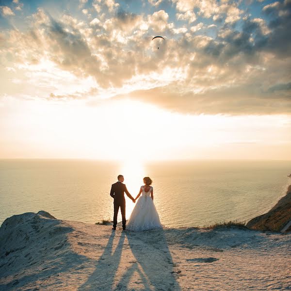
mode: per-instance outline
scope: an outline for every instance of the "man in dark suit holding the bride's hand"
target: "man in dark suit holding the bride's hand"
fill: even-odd
[[[134,198],[129,194],[125,184],[123,184],[124,178],[122,175],[118,175],[118,181],[114,183],[111,187],[110,196],[114,198],[114,215],[113,215],[113,228],[116,229],[117,225],[117,214],[120,207],[122,216],[122,229],[125,229],[126,219],[125,219],[125,198],[124,192],[129,196],[133,203],[135,203]]]

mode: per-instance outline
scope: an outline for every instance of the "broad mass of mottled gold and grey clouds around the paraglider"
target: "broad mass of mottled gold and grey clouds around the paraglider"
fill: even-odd
[[[91,18],[82,8],[58,18],[39,8],[25,30],[0,34],[0,61],[15,70],[5,80],[25,84],[32,72],[22,80],[19,67],[51,62],[80,80],[94,80],[94,96],[126,92],[183,113],[290,113],[290,3],[264,5],[255,17],[237,1],[202,2],[176,0],[173,13],[165,1],[164,9],[133,13],[113,0],[94,0],[82,7]],[[151,39],[160,33],[165,41],[157,46]],[[54,100],[89,96],[47,86]]]

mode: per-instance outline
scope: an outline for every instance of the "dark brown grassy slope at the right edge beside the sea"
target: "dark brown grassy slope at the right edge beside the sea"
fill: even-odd
[[[287,194],[267,213],[251,219],[246,226],[257,230],[291,231],[291,185]]]

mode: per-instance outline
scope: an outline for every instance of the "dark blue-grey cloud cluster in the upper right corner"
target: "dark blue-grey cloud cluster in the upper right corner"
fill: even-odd
[[[265,14],[272,14],[269,23],[261,18],[247,17],[242,20],[241,30],[236,30],[233,23],[224,25],[219,30],[218,37],[203,48],[205,54],[216,57],[220,63],[240,54],[248,57],[264,51],[275,53],[279,58],[289,57],[291,5],[288,1],[285,2],[278,2],[277,5],[264,9]],[[226,33],[227,31],[229,32]]]

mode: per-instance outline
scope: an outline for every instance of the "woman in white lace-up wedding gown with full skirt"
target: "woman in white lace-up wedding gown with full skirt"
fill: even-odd
[[[139,194],[135,200],[141,195],[134,209],[131,212],[126,228],[132,231],[143,231],[153,228],[162,228],[158,211],[154,204],[153,187],[151,178],[145,177],[144,184],[141,186]]]

